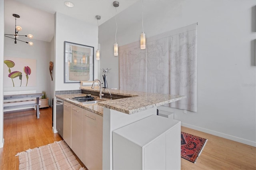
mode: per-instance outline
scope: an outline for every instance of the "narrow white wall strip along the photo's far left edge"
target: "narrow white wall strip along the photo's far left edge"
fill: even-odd
[[[0,0],[0,148],[4,146],[3,68],[4,68],[4,0]]]

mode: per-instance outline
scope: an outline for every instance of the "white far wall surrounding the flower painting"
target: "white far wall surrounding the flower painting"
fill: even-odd
[[[36,90],[37,93],[46,91],[50,95],[50,43],[32,40],[33,46],[24,42],[14,43],[11,38],[4,38],[4,57],[36,59],[36,86],[4,87],[4,91]]]

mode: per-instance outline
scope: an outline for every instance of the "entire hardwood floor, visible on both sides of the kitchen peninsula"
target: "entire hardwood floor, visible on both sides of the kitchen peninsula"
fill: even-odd
[[[58,133],[52,132],[52,108],[40,109],[40,113],[40,119],[36,119],[36,111],[32,109],[4,113],[4,148],[0,148],[0,170],[18,170],[19,158],[15,156],[18,152],[62,140]],[[255,147],[190,128],[181,129],[208,139],[195,164],[181,159],[182,170],[256,170]]]

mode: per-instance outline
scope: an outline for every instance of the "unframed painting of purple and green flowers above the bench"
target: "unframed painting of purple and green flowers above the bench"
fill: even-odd
[[[36,60],[4,57],[3,84],[4,87],[36,86]]]

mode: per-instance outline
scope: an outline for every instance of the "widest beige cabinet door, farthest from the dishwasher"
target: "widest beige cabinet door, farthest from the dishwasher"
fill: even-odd
[[[83,163],[89,170],[102,169],[103,117],[83,110]]]

